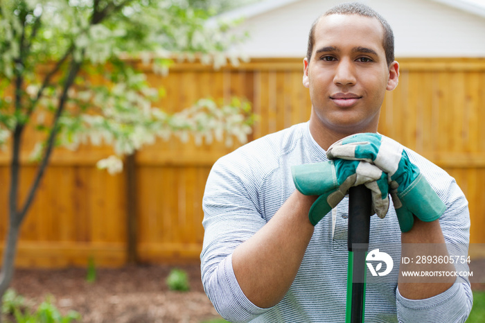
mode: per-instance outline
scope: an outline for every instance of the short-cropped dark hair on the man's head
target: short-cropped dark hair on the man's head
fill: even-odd
[[[327,10],[323,15],[318,17],[313,21],[312,27],[310,28],[310,34],[308,35],[308,49],[306,51],[306,58],[308,62],[312,58],[313,43],[315,42],[315,27],[320,21],[321,17],[326,17],[329,15],[361,15],[364,17],[376,18],[382,24],[384,28],[384,37],[382,40],[382,46],[384,47],[384,52],[386,55],[387,65],[394,62],[394,33],[392,33],[392,28],[387,23],[386,19],[373,10],[371,7],[358,2],[342,3],[333,8]]]

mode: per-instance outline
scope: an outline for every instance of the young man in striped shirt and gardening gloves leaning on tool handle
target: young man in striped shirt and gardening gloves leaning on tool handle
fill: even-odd
[[[385,91],[398,85],[391,28],[360,3],[332,8],[312,26],[303,67],[303,85],[312,102],[310,121],[222,157],[209,175],[201,261],[204,288],[215,308],[231,322],[343,322],[349,203],[344,194],[349,185],[376,187],[378,177],[366,177],[356,168],[369,161],[371,171],[389,178],[385,187],[382,182],[379,186],[383,199],[389,189],[394,201],[385,218],[371,217],[369,250],[386,245],[399,270],[367,284],[366,321],[464,322],[472,304],[468,280],[398,282],[405,269],[397,265],[402,244],[468,245],[470,222],[466,199],[448,174],[376,134]],[[352,134],[358,137],[346,138]],[[349,156],[346,145],[362,146],[362,139],[378,141],[375,155],[352,150]],[[399,163],[394,165],[396,150]],[[335,161],[328,161],[328,155]],[[342,175],[342,169],[351,176]],[[335,204],[326,195],[328,179],[321,176],[326,171],[337,176],[338,187],[330,190],[342,196]],[[367,180],[355,182],[363,175]],[[349,178],[354,179],[351,184]],[[308,180],[321,180],[321,192],[306,189]],[[415,186],[427,193],[419,191],[409,200],[403,191]],[[379,201],[373,199],[376,207]],[[315,209],[328,214],[315,216]],[[446,252],[439,247],[435,255]],[[449,263],[434,268],[452,269]]]

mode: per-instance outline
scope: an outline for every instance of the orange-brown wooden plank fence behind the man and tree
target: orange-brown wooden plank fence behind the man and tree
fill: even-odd
[[[470,203],[471,242],[485,243],[485,60],[402,59],[398,87],[388,92],[379,131],[416,150],[454,176]],[[141,63],[140,63],[141,64]],[[141,68],[150,70],[149,67]],[[308,89],[301,85],[300,59],[258,59],[213,71],[179,63],[170,75],[150,74],[165,87],[160,105],[177,111],[197,98],[243,96],[260,116],[251,139],[307,121]],[[26,146],[33,144],[26,134]],[[195,146],[160,141],[134,156],[135,224],[127,229],[127,175],[108,175],[96,161],[106,147],[58,150],[21,230],[17,266],[123,265],[130,232],[141,262],[197,261],[204,185],[215,160],[233,150],[222,143]],[[35,165],[22,157],[21,192]],[[0,152],[0,239],[7,227],[9,152]],[[132,187],[133,188],[133,187]],[[134,229],[131,230],[131,229]]]

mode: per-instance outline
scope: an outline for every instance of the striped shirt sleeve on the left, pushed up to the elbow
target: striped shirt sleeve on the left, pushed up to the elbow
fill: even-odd
[[[238,167],[224,159],[209,174],[202,202],[205,233],[201,271],[204,290],[216,311],[225,320],[248,322],[268,309],[258,308],[244,295],[231,257],[233,250],[266,221],[258,211],[256,185],[248,183],[251,169]]]

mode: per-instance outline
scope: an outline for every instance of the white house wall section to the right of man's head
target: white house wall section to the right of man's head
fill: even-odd
[[[389,20],[399,57],[484,57],[485,17],[423,0],[373,0]]]

